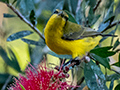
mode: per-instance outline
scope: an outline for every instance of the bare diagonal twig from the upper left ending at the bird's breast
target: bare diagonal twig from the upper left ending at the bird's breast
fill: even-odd
[[[44,36],[42,33],[32,24],[30,23],[18,10],[15,9],[11,4],[7,4],[7,6],[23,21],[25,22],[28,26],[30,26],[38,35],[45,40]]]

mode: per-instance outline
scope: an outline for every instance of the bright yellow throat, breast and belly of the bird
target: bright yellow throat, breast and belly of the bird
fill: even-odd
[[[82,57],[86,52],[93,49],[101,39],[101,36],[98,36],[96,38],[88,37],[74,41],[64,40],[61,38],[64,25],[65,20],[55,14],[49,19],[44,31],[46,44],[57,54],[72,55],[73,58],[77,56]]]

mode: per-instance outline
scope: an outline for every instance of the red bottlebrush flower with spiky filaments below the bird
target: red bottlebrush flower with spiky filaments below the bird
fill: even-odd
[[[15,79],[15,83],[11,85],[8,90],[67,90],[72,87],[63,81],[67,74],[62,70],[54,71],[48,69],[46,65],[39,65],[38,69],[33,66],[28,67],[25,71],[26,77],[19,75],[18,80]]]

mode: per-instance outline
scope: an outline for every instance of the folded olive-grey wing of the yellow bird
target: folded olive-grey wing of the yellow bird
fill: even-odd
[[[62,38],[66,40],[77,40],[86,37],[95,37],[98,35],[101,35],[101,33],[91,28],[83,27],[78,24],[67,21],[64,27],[64,34]]]

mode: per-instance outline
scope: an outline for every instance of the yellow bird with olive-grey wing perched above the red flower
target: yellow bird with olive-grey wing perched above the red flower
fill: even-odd
[[[68,18],[64,11],[56,9],[46,24],[45,42],[57,54],[82,58],[99,44],[102,34],[70,22]]]

